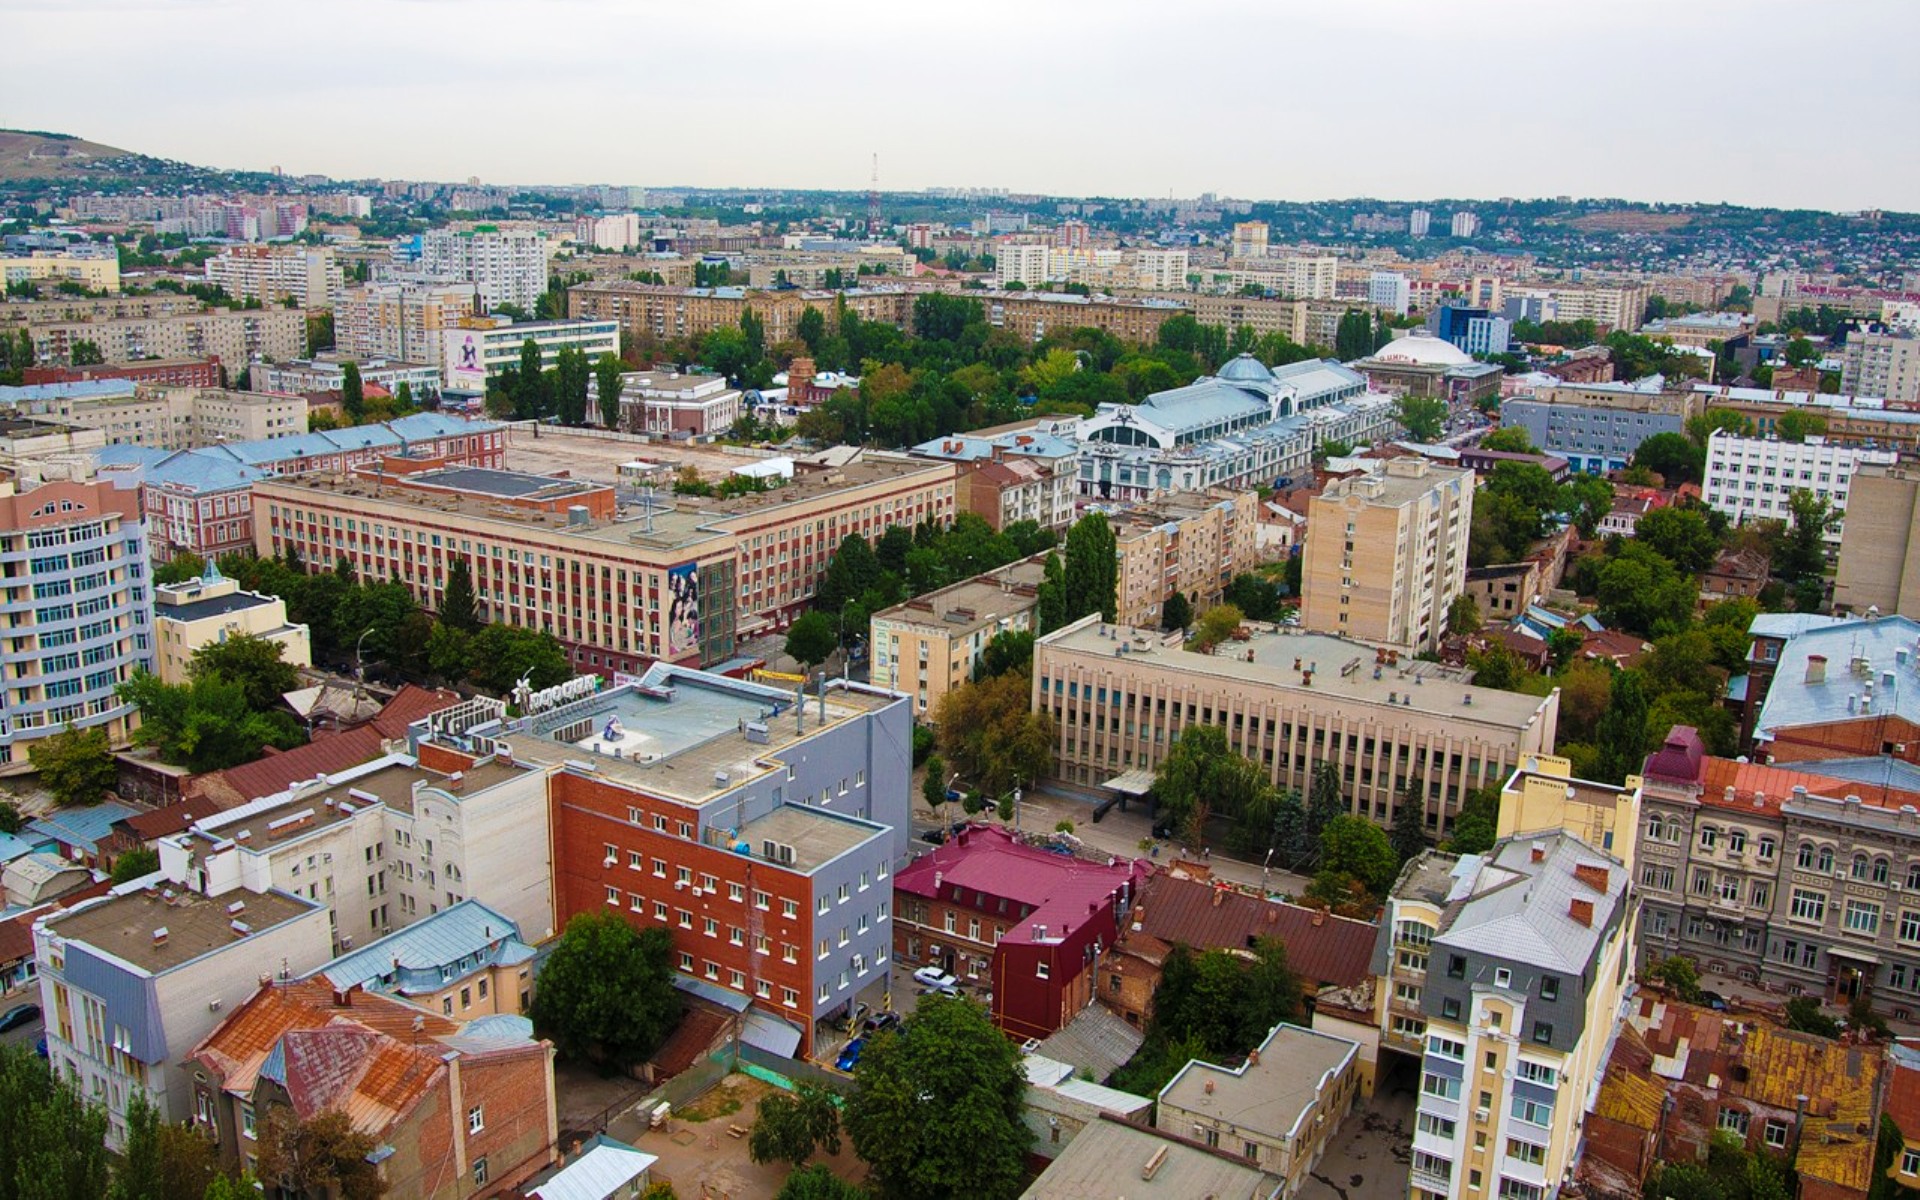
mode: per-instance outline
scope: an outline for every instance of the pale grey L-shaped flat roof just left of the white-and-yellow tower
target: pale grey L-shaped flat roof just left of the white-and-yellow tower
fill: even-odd
[[[1338,1073],[1357,1044],[1344,1037],[1313,1033],[1300,1025],[1275,1025],[1267,1041],[1238,1068],[1198,1058],[1160,1089],[1160,1102],[1204,1114],[1236,1129],[1284,1139],[1319,1102],[1329,1077]]]

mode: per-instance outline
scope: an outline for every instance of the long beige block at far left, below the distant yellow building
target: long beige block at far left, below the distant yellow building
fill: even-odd
[[[307,351],[307,315],[300,309],[211,309],[171,317],[48,321],[27,326],[38,363],[71,363],[73,348],[92,342],[108,363],[217,357],[238,371],[259,359]]]

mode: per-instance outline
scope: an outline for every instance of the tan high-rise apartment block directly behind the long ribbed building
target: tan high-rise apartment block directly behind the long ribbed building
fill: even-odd
[[[1467,584],[1471,524],[1471,470],[1402,457],[1331,484],[1308,505],[1302,626],[1432,649]]]

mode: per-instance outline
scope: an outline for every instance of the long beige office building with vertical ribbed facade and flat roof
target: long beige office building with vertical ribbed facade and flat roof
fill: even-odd
[[[1553,745],[1559,693],[1486,691],[1461,672],[1327,634],[1254,630],[1202,655],[1179,634],[1098,614],[1033,647],[1033,707],[1054,718],[1056,780],[1085,795],[1140,795],[1173,737],[1219,726],[1279,787],[1340,772],[1352,810],[1380,826],[1407,783],[1446,837],[1473,787]]]

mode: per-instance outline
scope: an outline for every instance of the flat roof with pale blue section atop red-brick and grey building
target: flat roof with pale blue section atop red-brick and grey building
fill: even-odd
[[[515,762],[584,762],[611,780],[705,804],[780,770],[778,755],[822,724],[897,703],[885,693],[829,687],[822,722],[822,701],[808,693],[803,730],[791,691],[668,666],[649,670],[647,682],[651,687],[611,687],[516,722],[505,735]],[[749,726],[764,726],[764,733]]]

